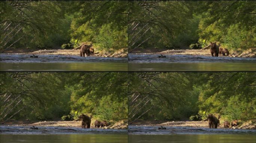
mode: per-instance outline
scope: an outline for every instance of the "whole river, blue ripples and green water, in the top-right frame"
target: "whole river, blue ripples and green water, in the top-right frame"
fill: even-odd
[[[256,71],[256,58],[129,54],[129,71]]]

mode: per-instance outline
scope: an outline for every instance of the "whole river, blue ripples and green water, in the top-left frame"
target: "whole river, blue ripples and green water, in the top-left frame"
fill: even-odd
[[[0,71],[127,71],[127,58],[0,54]]]

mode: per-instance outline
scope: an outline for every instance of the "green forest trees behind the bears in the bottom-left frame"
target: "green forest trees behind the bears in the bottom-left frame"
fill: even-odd
[[[128,73],[1,72],[0,122],[127,120]]]

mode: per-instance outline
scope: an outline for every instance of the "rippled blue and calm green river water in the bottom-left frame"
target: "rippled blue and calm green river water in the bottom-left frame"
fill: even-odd
[[[0,143],[128,143],[127,130],[0,126]]]

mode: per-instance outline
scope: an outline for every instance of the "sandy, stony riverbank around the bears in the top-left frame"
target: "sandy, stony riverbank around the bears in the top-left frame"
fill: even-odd
[[[9,50],[4,53],[7,54],[28,54],[28,55],[76,55],[80,56],[80,50]],[[94,55],[95,57],[116,57],[116,58],[125,58],[127,57],[127,51],[125,51],[125,48],[122,48],[118,51],[113,52],[102,52],[102,51],[95,51]]]

